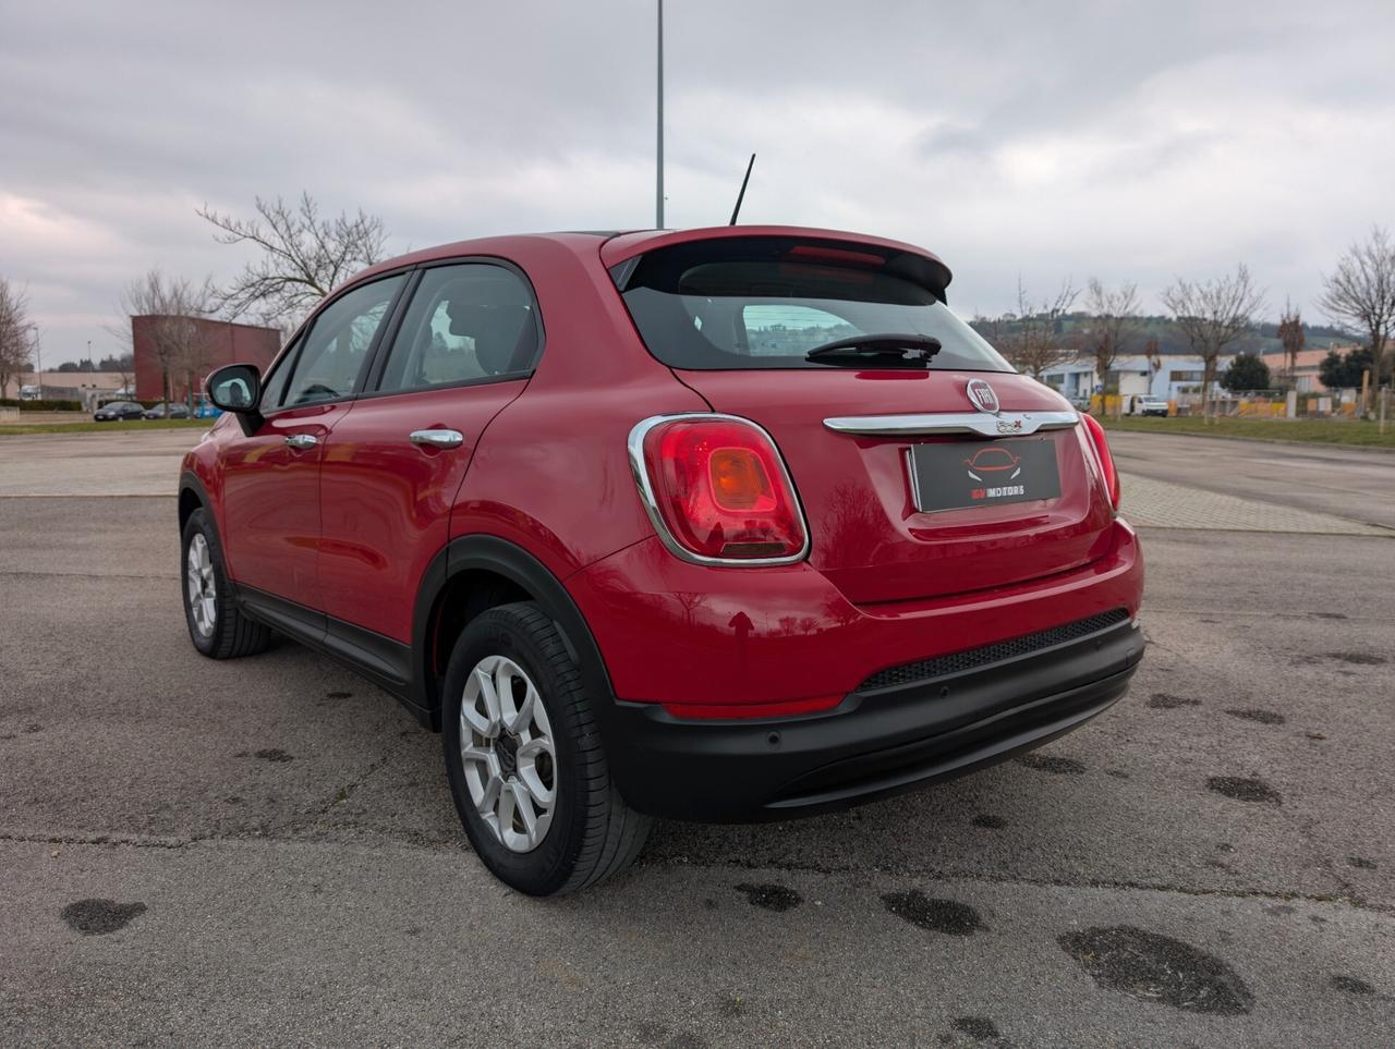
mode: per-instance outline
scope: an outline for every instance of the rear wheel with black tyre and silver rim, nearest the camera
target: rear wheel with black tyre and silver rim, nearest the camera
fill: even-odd
[[[615,788],[580,668],[538,605],[499,605],[470,621],[442,695],[451,794],[470,844],[501,882],[555,896],[629,866],[651,820]]]

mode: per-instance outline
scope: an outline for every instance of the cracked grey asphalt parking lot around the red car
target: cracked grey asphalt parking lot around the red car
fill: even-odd
[[[1144,527],[1149,653],[1091,725],[836,816],[661,824],[534,901],[388,696],[293,644],[193,651],[174,501],[141,494],[193,435],[134,480],[92,439],[38,474],[0,439],[3,1045],[1391,1043],[1395,540]],[[1384,460],[1331,459],[1230,494],[1395,518]]]

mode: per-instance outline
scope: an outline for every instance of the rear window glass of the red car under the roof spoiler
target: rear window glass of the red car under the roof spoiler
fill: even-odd
[[[932,335],[932,368],[1013,371],[943,303],[929,259],[861,244],[734,237],[660,248],[612,271],[640,338],[672,368],[847,367],[805,359],[858,335]]]

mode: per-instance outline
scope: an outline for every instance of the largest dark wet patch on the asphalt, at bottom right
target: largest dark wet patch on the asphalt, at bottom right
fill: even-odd
[[[1063,933],[1062,950],[1102,988],[1187,1013],[1244,1016],[1254,995],[1221,958],[1133,925]]]

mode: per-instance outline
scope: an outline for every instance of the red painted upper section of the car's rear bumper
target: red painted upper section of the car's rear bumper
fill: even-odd
[[[1143,559],[1133,529],[1113,522],[1098,554],[1032,584],[859,607],[810,564],[711,569],[674,558],[656,538],[566,586],[621,699],[739,707],[841,697],[887,667],[1112,608],[1137,612]]]

